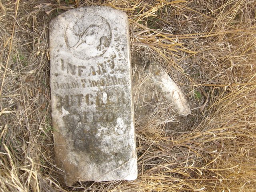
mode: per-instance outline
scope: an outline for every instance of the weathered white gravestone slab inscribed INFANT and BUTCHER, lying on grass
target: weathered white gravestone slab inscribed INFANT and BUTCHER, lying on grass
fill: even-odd
[[[136,179],[126,14],[90,6],[54,18],[50,84],[55,159],[65,183]]]

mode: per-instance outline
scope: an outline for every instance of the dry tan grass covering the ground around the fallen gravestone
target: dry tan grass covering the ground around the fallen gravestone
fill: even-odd
[[[54,165],[48,22],[127,12],[132,54],[157,60],[192,114],[154,103],[136,121],[138,179],[61,186]],[[0,0],[0,191],[256,191],[256,1]]]

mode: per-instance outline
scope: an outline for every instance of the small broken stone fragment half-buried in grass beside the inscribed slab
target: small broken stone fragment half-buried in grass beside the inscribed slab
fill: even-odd
[[[160,64],[151,62],[147,67],[137,65],[132,82],[136,117],[146,115],[148,113],[147,103],[157,100],[153,93],[154,89],[171,103],[172,108],[178,114],[182,116],[190,114],[190,108],[182,90]]]

